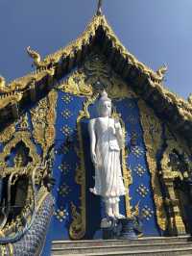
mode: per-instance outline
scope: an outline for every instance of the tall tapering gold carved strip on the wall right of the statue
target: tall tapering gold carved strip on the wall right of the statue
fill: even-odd
[[[162,194],[158,181],[158,175],[156,173],[156,153],[162,144],[162,127],[154,111],[152,109],[149,109],[143,100],[140,99],[138,101],[138,107],[140,110],[140,120],[143,128],[143,137],[146,146],[147,162],[152,176],[151,179],[154,192],[154,201],[156,204],[157,224],[160,229],[165,230],[167,226],[167,217],[163,207]]]

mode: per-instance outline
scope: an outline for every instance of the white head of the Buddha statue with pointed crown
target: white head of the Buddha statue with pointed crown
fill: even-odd
[[[108,93],[103,90],[101,97],[98,102],[98,113],[100,116],[110,116],[111,115],[111,99],[108,98]]]

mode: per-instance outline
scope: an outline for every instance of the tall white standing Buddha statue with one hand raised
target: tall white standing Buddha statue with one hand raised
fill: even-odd
[[[95,166],[95,187],[90,189],[101,195],[107,217],[124,218],[119,213],[119,197],[126,193],[120,163],[123,145],[121,124],[111,117],[111,100],[104,90],[98,102],[99,117],[89,122],[90,153]]]

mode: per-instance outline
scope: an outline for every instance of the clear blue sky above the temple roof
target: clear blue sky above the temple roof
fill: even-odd
[[[77,38],[97,0],[0,0],[0,74],[8,81],[32,70],[30,45],[42,56]],[[192,92],[192,0],[104,0],[112,29],[136,58],[168,64],[166,86]]]

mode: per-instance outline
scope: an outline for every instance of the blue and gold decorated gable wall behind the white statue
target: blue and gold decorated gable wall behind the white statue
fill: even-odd
[[[183,142],[174,137],[154,111],[113,72],[105,58],[93,53],[0,134],[0,162],[6,163],[5,169],[9,171],[15,166],[19,141],[26,146],[31,166],[41,165],[54,145],[55,210],[44,255],[49,255],[53,240],[102,237],[100,222],[104,205],[100,197],[89,192],[94,184],[94,167],[87,131],[89,119],[97,116],[101,89],[108,91],[112,115],[119,118],[125,136],[122,171],[129,194],[121,198],[121,213],[131,216],[137,207],[144,236],[172,233],[164,200],[165,197],[175,200],[177,195],[173,193],[174,179],[172,191],[167,189],[163,171],[168,169],[171,173],[175,167],[170,154],[178,152],[178,156],[184,155],[187,159],[187,149],[180,148]],[[173,194],[176,197],[171,197]],[[175,219],[182,220],[181,212],[177,213]],[[184,224],[180,223],[178,230],[184,230]]]

